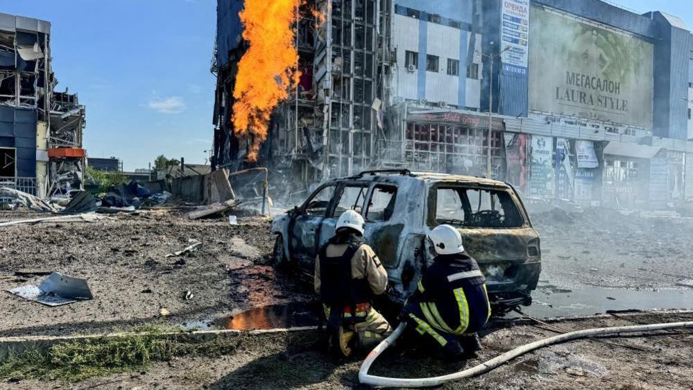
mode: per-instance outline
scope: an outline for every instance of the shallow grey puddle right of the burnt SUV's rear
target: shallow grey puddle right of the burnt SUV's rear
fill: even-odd
[[[607,310],[690,309],[692,289],[628,290],[590,287],[570,292],[542,294],[535,291],[531,307],[522,311],[531,316],[585,316]]]

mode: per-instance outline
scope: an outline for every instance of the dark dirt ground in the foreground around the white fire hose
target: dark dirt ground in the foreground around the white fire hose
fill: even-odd
[[[615,325],[693,321],[693,312],[615,314],[554,323],[569,330]],[[380,357],[376,375],[404,378],[444,375],[469,368],[511,348],[555,333],[533,325],[496,323],[482,339],[479,358],[443,363],[400,344]],[[352,389],[359,388],[361,361],[325,356],[316,334],[248,339],[233,355],[174,359],[139,373],[92,378],[79,384],[22,380],[6,389]],[[477,378],[442,389],[690,389],[693,331],[662,331],[643,337],[571,341],[534,351]]]

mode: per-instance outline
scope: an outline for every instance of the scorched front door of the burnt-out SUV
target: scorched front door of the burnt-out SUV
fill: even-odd
[[[318,187],[294,214],[289,226],[289,256],[305,272],[312,272],[311,264],[318,254],[320,225],[330,215],[337,189],[337,183]]]

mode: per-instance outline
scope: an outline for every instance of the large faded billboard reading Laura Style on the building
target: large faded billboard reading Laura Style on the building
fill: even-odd
[[[652,44],[542,7],[531,35],[531,110],[652,127]]]

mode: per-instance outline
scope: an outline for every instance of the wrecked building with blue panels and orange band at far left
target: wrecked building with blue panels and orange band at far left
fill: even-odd
[[[85,108],[55,91],[51,24],[0,13],[0,185],[37,196],[80,189]]]

